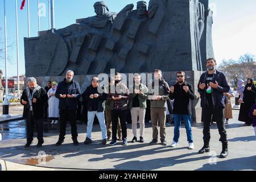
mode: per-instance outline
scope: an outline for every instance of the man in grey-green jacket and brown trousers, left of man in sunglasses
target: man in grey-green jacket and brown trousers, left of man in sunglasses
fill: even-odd
[[[158,88],[156,88],[158,86]],[[158,93],[157,93],[158,92]],[[163,146],[166,142],[166,101],[169,99],[170,87],[163,80],[162,71],[155,70],[154,81],[148,88],[148,99],[150,100],[150,115],[153,129],[153,139],[150,144],[158,142],[158,121],[160,125],[160,140]]]

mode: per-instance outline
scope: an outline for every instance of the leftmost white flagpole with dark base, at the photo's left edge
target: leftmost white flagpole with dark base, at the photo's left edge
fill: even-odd
[[[6,28],[6,7],[5,0],[3,0],[3,12],[5,19],[5,101],[3,102],[3,115],[1,118],[10,118],[9,115],[9,102],[8,102],[8,76],[7,76],[7,28]]]

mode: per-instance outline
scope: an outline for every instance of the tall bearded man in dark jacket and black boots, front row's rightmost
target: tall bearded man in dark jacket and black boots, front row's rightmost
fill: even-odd
[[[204,146],[199,151],[199,154],[209,152],[210,150],[210,123],[212,118],[214,118],[217,123],[218,133],[220,134],[220,142],[222,142],[220,158],[226,158],[228,156],[228,140],[224,123],[225,98],[223,93],[229,92],[230,87],[224,73],[217,71],[216,60],[209,58],[206,63],[208,71],[201,75],[197,85],[201,96],[204,122]]]

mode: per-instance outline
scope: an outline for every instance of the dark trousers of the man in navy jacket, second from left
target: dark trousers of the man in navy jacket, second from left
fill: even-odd
[[[61,110],[60,109],[60,135],[59,139],[64,140],[66,135],[67,121],[71,125],[71,135],[73,140],[77,140],[77,126],[76,126],[76,110]]]

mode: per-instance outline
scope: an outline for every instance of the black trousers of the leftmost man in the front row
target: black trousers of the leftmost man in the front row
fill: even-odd
[[[31,143],[34,138],[34,126],[36,126],[36,131],[38,132],[38,142],[44,143],[44,119],[35,119],[33,117],[32,111],[28,110],[26,115],[26,130],[28,143]]]

